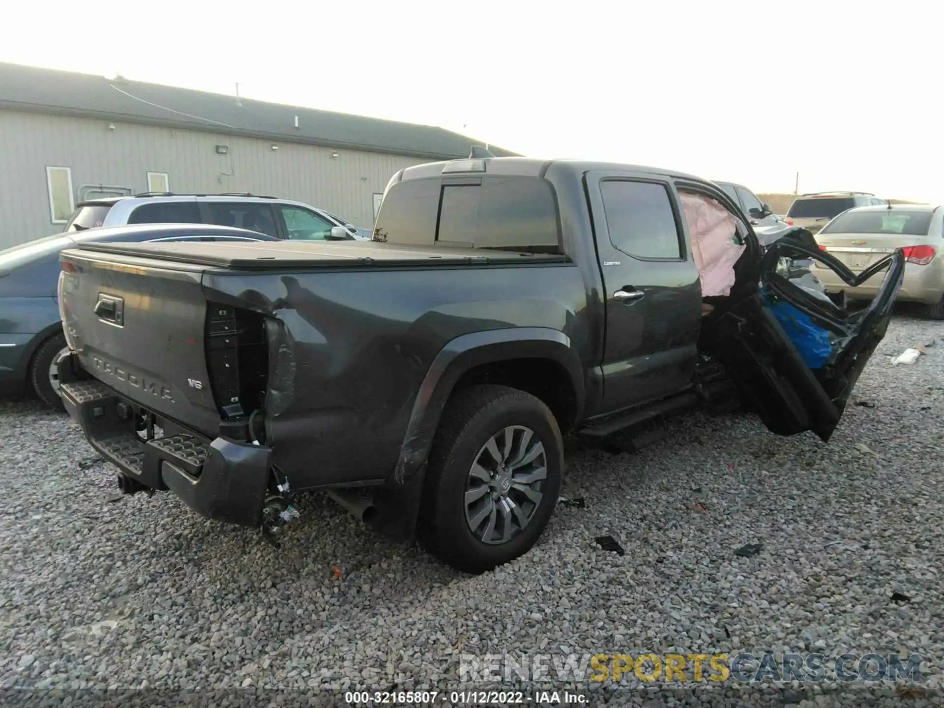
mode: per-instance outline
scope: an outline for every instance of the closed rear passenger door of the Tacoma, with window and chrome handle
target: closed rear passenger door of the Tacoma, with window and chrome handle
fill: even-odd
[[[601,413],[682,390],[698,359],[701,287],[675,187],[588,172],[606,310]]]

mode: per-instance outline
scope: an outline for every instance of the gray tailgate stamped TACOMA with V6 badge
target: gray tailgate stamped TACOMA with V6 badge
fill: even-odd
[[[66,251],[59,300],[79,362],[119,394],[213,433],[204,267]]]

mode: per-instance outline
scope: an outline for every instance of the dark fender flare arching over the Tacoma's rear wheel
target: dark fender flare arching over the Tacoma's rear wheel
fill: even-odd
[[[464,373],[483,363],[513,359],[548,359],[564,366],[580,417],[585,399],[582,365],[564,332],[533,327],[463,334],[440,349],[420,385],[400,446],[394,471],[396,483],[407,483],[424,467],[447,400]]]

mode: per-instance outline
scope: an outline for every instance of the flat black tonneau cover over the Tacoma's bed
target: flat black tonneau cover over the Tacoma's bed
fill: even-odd
[[[82,244],[81,250],[239,270],[569,261],[566,256],[555,254],[448,246],[395,245],[372,241],[92,243]],[[77,253],[76,249],[64,251],[63,257],[67,258],[70,253]]]

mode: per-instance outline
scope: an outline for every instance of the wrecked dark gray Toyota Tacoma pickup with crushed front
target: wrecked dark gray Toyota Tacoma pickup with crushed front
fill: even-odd
[[[811,260],[885,284],[845,312]],[[736,389],[828,440],[904,268],[852,274],[799,228],[761,244],[698,177],[475,151],[397,173],[372,242],[61,261],[62,397],[125,491],[272,536],[290,493],[327,489],[469,572],[537,541],[564,434],[632,441]]]

